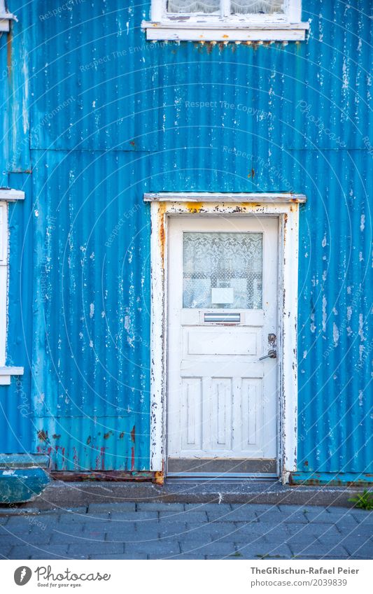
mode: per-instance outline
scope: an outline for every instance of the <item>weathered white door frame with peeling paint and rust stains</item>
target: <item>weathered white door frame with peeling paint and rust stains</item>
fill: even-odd
[[[279,478],[297,470],[297,274],[300,194],[147,193],[150,202],[150,470],[166,468],[168,220],[171,216],[279,218]]]

